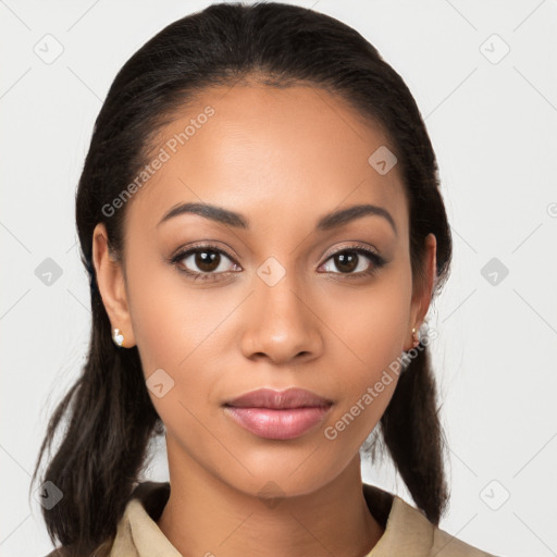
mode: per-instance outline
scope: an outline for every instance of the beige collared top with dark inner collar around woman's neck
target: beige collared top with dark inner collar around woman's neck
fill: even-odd
[[[397,495],[363,484],[383,535],[366,557],[495,557],[433,525]],[[170,495],[169,482],[137,485],[126,506],[110,557],[183,557],[157,525]]]

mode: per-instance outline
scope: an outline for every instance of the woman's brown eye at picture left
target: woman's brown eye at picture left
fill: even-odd
[[[236,265],[231,255],[212,245],[196,246],[180,251],[170,262],[183,273],[194,276],[196,281],[214,280],[213,275],[234,272],[230,267]]]

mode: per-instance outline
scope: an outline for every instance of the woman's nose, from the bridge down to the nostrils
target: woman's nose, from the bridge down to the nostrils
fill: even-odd
[[[242,351],[248,359],[293,364],[323,350],[315,298],[299,288],[294,273],[273,286],[258,277],[243,317]]]

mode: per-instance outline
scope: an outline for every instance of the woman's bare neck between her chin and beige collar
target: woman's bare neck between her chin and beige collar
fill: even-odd
[[[171,493],[158,525],[183,555],[362,557],[383,534],[363,497],[359,455],[318,491],[274,500],[182,455],[176,462],[169,451]]]

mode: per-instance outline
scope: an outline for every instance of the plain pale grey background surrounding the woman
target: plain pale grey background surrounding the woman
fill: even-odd
[[[74,191],[94,120],[123,63],[209,3],[0,0],[0,556],[51,548],[27,493],[46,419],[87,347]],[[429,315],[450,446],[441,527],[491,553],[555,555],[557,4],[294,3],[380,50],[414,95],[437,153],[455,242]],[[61,274],[49,283],[53,267]],[[163,448],[149,478],[168,478]],[[408,500],[388,466],[362,471]]]

